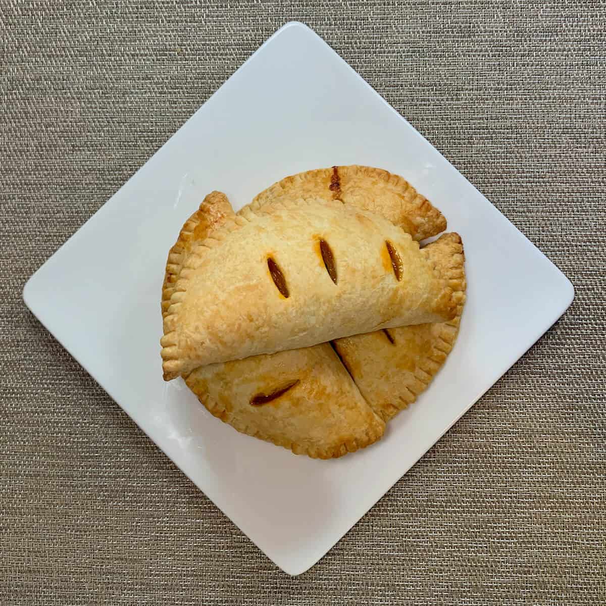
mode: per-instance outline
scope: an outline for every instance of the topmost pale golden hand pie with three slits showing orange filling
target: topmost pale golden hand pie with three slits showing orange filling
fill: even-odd
[[[168,380],[455,314],[436,265],[390,221],[339,201],[272,201],[192,248],[164,318],[162,367]]]

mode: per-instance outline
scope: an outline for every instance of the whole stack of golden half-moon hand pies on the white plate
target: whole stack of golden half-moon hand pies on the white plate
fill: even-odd
[[[236,430],[333,458],[377,441],[453,347],[461,238],[397,175],[282,179],[234,213],[210,193],[168,254],[162,367]]]

